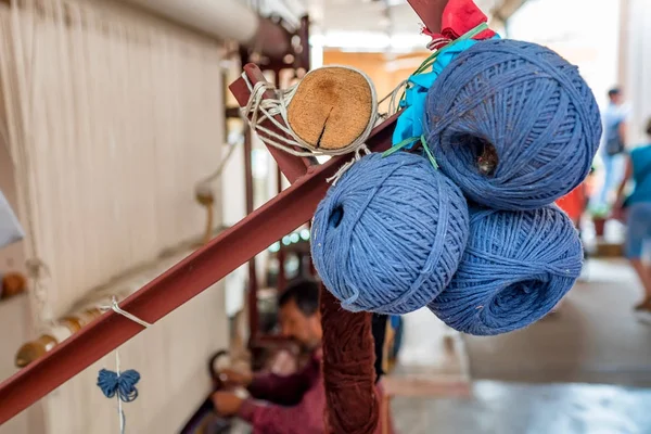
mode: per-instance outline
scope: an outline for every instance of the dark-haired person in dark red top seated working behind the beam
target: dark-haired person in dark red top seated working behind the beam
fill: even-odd
[[[309,280],[291,284],[279,298],[279,320],[282,334],[309,352],[310,361],[288,376],[221,371],[220,378],[227,386],[244,386],[252,398],[216,392],[213,395],[215,409],[222,416],[237,416],[247,421],[253,425],[254,434],[323,433],[326,392],[321,372],[319,284]],[[382,396],[381,390],[378,393]],[[382,432],[381,423],[375,431]]]

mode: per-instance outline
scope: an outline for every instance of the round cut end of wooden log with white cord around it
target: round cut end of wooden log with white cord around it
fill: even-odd
[[[373,89],[361,73],[327,66],[301,80],[288,107],[288,122],[312,148],[339,150],[361,136],[373,110]]]

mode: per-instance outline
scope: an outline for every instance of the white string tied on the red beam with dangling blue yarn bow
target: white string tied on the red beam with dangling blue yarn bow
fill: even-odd
[[[136,317],[135,315],[124,310],[119,307],[117,298],[112,298],[111,306],[101,306],[101,310],[113,310],[114,312],[122,315],[125,318],[144,327],[149,328],[152,324]],[[115,350],[115,372],[107,369],[100,370],[98,374],[98,386],[102,390],[102,393],[107,398],[116,397],[117,399],[117,414],[119,417],[119,432],[125,434],[126,430],[126,417],[123,409],[123,403],[131,403],[138,397],[138,388],[136,384],[140,381],[140,373],[133,369],[128,369],[124,372],[120,371],[119,352]]]

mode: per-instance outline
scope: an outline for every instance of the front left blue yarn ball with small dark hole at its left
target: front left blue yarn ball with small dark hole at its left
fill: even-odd
[[[468,219],[461,191],[426,158],[370,154],[319,204],[312,259],[344,309],[407,314],[449,283],[465,247]]]

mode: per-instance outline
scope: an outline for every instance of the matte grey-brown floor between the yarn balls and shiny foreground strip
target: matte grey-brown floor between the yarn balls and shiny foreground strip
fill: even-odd
[[[641,297],[635,273],[622,260],[591,260],[586,271],[557,316],[500,336],[465,336],[473,379],[651,387],[651,326],[633,315]]]

